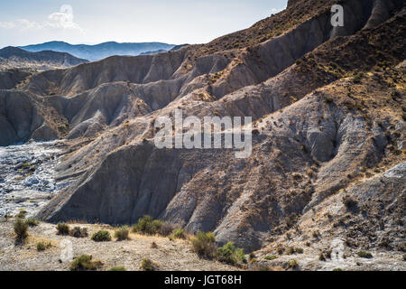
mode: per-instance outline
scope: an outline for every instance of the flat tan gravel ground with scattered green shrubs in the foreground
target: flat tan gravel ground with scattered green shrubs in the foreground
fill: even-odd
[[[150,258],[162,271],[234,271],[236,267],[199,258],[191,251],[186,240],[174,240],[161,237],[146,237],[130,235],[130,240],[97,243],[90,239],[99,229],[114,229],[106,225],[78,224],[88,228],[88,238],[73,238],[57,235],[55,225],[40,223],[39,226],[29,228],[29,238],[25,244],[14,244],[14,219],[0,221],[0,270],[1,271],[64,271],[69,270],[69,261],[60,262],[62,244],[69,240],[73,247],[73,256],[87,254],[94,260],[100,260],[104,266],[101,270],[108,270],[114,266],[125,266],[127,270],[140,270],[144,257]],[[38,252],[36,244],[40,241],[51,242],[52,247]],[[62,242],[63,241],[63,242]],[[152,242],[158,247],[152,248]]]

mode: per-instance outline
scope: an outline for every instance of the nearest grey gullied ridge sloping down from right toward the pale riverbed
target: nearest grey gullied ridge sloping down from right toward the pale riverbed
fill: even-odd
[[[373,30],[326,42],[260,85],[219,100],[205,92],[189,93],[146,119],[134,118],[97,137],[61,165],[61,176],[77,172],[83,176],[53,200],[42,217],[132,223],[151,214],[191,231],[215,230],[220,243],[233,240],[247,250],[261,247],[272,234],[290,228],[303,212],[354,182],[359,167],[374,168],[383,158],[390,162],[391,155],[391,162],[399,162],[398,150],[391,154],[390,147],[404,132],[402,126],[392,126],[402,121],[404,70],[385,70],[383,76],[381,69],[376,70],[359,87],[355,70],[391,67],[404,60],[404,44],[398,41],[404,34],[403,23],[404,13]],[[375,40],[370,48],[365,38]],[[383,58],[375,58],[381,45],[391,49],[380,52]],[[366,55],[373,56],[371,62],[360,66],[343,58],[340,70],[335,71],[332,52],[354,55],[361,46]],[[320,67],[311,65],[315,57]],[[346,75],[354,75],[354,80],[337,80],[312,92]],[[386,100],[394,81],[393,93],[398,97]],[[345,88],[349,86],[355,89],[352,94],[359,90],[363,98],[348,95]],[[367,99],[373,96],[369,107]],[[260,135],[254,136],[253,155],[236,160],[227,150],[158,150],[145,142],[143,138],[153,135],[153,119],[170,115],[176,107],[185,115],[202,117],[216,112],[258,118],[254,126]],[[274,112],[281,107],[288,108]],[[272,115],[263,117],[269,113]],[[382,123],[377,116],[383,117]],[[388,138],[388,133],[397,136]],[[101,163],[87,169],[88,154],[92,154],[92,162],[99,159]],[[120,182],[110,182],[110,178]]]

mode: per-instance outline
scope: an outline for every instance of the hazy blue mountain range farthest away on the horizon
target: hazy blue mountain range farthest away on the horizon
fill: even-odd
[[[161,42],[143,43],[117,43],[104,42],[97,45],[78,44],[72,45],[67,42],[45,42],[28,46],[20,46],[26,51],[58,51],[67,52],[73,56],[88,61],[98,61],[113,55],[137,56],[142,53],[151,54],[151,51],[171,51],[176,45]]]

